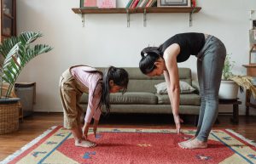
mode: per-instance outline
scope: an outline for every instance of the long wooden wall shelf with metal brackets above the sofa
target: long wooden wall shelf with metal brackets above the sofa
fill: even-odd
[[[198,13],[201,7],[172,7],[172,8],[72,8],[75,14],[81,14],[84,25],[84,14],[127,14],[127,26],[130,26],[130,14],[143,13],[144,26],[148,13],[189,13],[189,26],[192,25],[192,14]]]

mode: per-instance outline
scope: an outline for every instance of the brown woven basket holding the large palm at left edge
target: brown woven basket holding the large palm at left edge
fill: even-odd
[[[0,134],[15,132],[19,129],[19,102],[0,104]]]

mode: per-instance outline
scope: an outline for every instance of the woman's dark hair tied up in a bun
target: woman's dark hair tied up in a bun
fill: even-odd
[[[146,54],[146,55],[145,55]],[[162,58],[163,55],[161,54],[160,48],[158,47],[148,47],[144,48],[141,52],[142,59],[140,60],[139,67],[143,74],[148,74],[153,71],[156,66],[154,62]]]

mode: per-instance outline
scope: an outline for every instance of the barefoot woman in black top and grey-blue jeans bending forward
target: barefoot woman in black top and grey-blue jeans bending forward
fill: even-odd
[[[183,149],[207,148],[207,139],[218,116],[218,89],[221,81],[226,49],[217,37],[203,33],[177,34],[160,45],[144,48],[139,67],[143,74],[164,74],[177,133],[182,119],[179,109],[179,78],[177,63],[197,57],[197,75],[200,85],[201,109],[195,137],[179,143]]]

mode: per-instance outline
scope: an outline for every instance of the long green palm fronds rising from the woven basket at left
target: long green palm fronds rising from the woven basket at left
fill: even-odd
[[[5,98],[9,98],[10,91],[22,68],[38,54],[47,53],[52,49],[44,44],[31,46],[31,43],[39,37],[43,37],[40,32],[22,32],[18,37],[6,39],[0,45],[0,61],[2,62],[0,63],[1,88],[3,88],[3,82],[9,83],[8,92],[4,95]],[[0,89],[0,93],[2,98],[2,89]]]

